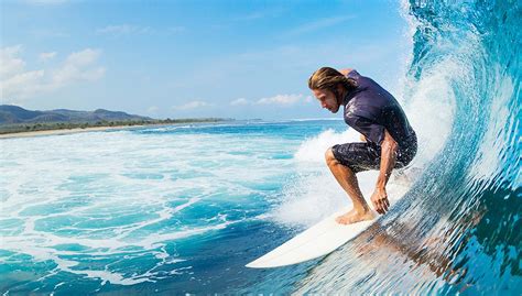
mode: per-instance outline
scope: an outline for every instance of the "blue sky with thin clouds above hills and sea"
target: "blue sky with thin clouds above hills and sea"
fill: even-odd
[[[2,0],[1,103],[152,118],[339,118],[307,87],[356,68],[396,95],[401,3]]]

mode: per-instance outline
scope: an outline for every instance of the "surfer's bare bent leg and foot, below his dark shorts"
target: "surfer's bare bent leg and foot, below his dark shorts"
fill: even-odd
[[[355,172],[350,167],[340,164],[331,149],[326,151],[325,158],[331,174],[354,204],[354,210],[338,217],[336,220],[340,223],[348,224],[373,219],[374,215],[371,212],[370,207],[362,196]]]

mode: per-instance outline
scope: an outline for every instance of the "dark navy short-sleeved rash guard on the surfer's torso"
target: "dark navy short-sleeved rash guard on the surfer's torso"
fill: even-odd
[[[344,98],[345,122],[379,147],[387,129],[400,151],[415,146],[416,152],[415,132],[395,98],[357,70],[351,70],[348,77],[356,80],[358,87]]]

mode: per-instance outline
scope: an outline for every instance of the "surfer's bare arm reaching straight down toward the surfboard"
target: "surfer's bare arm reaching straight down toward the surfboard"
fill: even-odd
[[[379,213],[385,213],[390,207],[385,187],[391,172],[395,166],[398,149],[398,143],[384,129],[384,140],[382,140],[381,143],[381,166],[379,177],[377,178],[376,190],[371,196],[371,202]]]

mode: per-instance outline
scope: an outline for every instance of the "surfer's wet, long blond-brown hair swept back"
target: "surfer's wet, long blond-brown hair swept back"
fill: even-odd
[[[337,94],[337,86],[342,85],[348,91],[357,88],[357,81],[352,78],[348,78],[342,75],[340,72],[330,68],[323,67],[314,74],[308,79],[309,89],[327,89]]]

